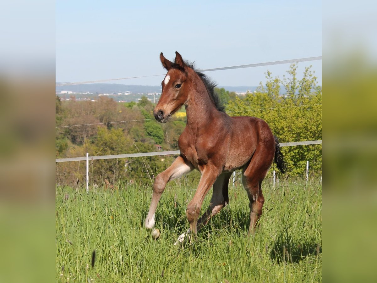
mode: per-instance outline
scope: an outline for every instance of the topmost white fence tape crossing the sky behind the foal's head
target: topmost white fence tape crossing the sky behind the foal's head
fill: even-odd
[[[298,59],[291,59],[291,60],[280,60],[280,61],[265,62],[265,63],[254,63],[254,64],[238,65],[238,66],[228,66],[228,67],[222,67],[222,68],[199,69],[198,71],[200,71],[200,72],[221,71],[221,70],[230,70],[230,69],[241,69],[241,68],[252,68],[252,67],[261,67],[261,66],[289,64],[289,63],[299,63],[299,62],[316,61],[316,60],[322,60],[322,56],[298,58]],[[86,83],[102,83],[102,82],[110,82],[110,81],[115,81],[115,80],[127,80],[127,79],[131,79],[131,78],[157,77],[157,76],[163,76],[163,75],[166,75],[166,74],[147,75],[147,76],[139,76],[139,77],[127,77],[127,78],[109,78],[109,79],[106,79],[106,80],[72,82],[72,83],[55,83],[55,86],[84,85]]]

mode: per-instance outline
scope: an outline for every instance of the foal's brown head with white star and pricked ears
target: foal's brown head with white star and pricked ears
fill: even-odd
[[[184,63],[181,55],[175,52],[175,62],[167,60],[162,52],[160,54],[162,66],[167,70],[167,74],[161,83],[162,93],[153,114],[158,122],[166,123],[186,102],[188,91],[185,91],[189,67]]]

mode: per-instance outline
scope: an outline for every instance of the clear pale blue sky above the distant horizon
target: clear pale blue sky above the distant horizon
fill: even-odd
[[[322,55],[320,1],[56,2],[56,81],[78,82],[163,74],[159,54],[175,51],[197,68]],[[313,65],[322,83],[322,61]],[[258,85],[269,69],[207,72],[218,85]],[[113,83],[159,85],[163,77]]]

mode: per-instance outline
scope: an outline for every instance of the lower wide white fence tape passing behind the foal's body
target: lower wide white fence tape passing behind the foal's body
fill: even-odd
[[[280,146],[299,146],[299,145],[318,145],[322,144],[322,140],[310,140],[310,141],[294,141],[290,143],[280,143]],[[154,151],[154,152],[141,152],[130,154],[114,154],[114,155],[98,155],[89,156],[89,160],[100,159],[114,159],[114,158],[132,158],[132,157],[146,157],[146,156],[160,156],[160,155],[176,155],[180,154],[179,150],[174,151]],[[57,158],[55,162],[68,162],[68,161],[86,161],[86,157],[72,157],[72,158]]]

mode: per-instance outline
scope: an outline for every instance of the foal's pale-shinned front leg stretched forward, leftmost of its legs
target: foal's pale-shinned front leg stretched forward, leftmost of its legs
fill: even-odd
[[[155,212],[158,201],[161,198],[162,192],[164,192],[166,183],[174,178],[181,177],[194,169],[194,166],[187,161],[182,155],[179,155],[172,165],[169,166],[164,172],[158,174],[153,183],[153,196],[150,203],[149,212],[145,220],[144,226],[152,231],[152,237],[157,239],[160,236],[160,231],[155,229]]]

